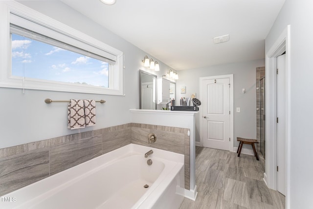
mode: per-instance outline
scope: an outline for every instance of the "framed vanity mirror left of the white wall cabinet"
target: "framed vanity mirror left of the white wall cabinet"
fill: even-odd
[[[156,110],[156,102],[153,102],[153,79],[157,76],[139,70],[139,109]]]

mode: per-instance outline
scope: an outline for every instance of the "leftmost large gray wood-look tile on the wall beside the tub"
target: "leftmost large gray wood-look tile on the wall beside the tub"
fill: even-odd
[[[0,196],[49,176],[49,150],[39,149],[0,159]]]

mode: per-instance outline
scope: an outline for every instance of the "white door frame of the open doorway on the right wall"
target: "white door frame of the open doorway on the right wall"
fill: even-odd
[[[290,154],[291,154],[291,65],[290,25],[287,25],[275,43],[266,52],[266,156],[264,181],[271,189],[277,190],[277,139],[276,139],[276,57],[286,51],[286,208],[290,209]],[[269,139],[272,139],[271,141]]]

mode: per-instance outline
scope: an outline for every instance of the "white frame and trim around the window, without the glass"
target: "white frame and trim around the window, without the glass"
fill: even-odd
[[[84,40],[84,44],[97,46],[97,49],[109,52],[116,56],[115,64],[109,67],[109,88],[89,86],[84,84],[72,84],[65,82],[22,78],[11,76],[11,41],[10,41],[10,13],[31,20],[34,23],[62,31],[68,37]],[[27,28],[27,26],[25,26]],[[77,41],[78,42],[78,41]],[[0,1],[0,87],[34,89],[60,92],[96,93],[123,95],[123,52],[104,44],[66,24],[60,23],[16,1]]]

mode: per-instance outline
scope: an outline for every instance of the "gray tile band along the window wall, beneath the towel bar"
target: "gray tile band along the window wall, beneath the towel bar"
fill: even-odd
[[[131,143],[131,123],[0,149],[0,196]]]

